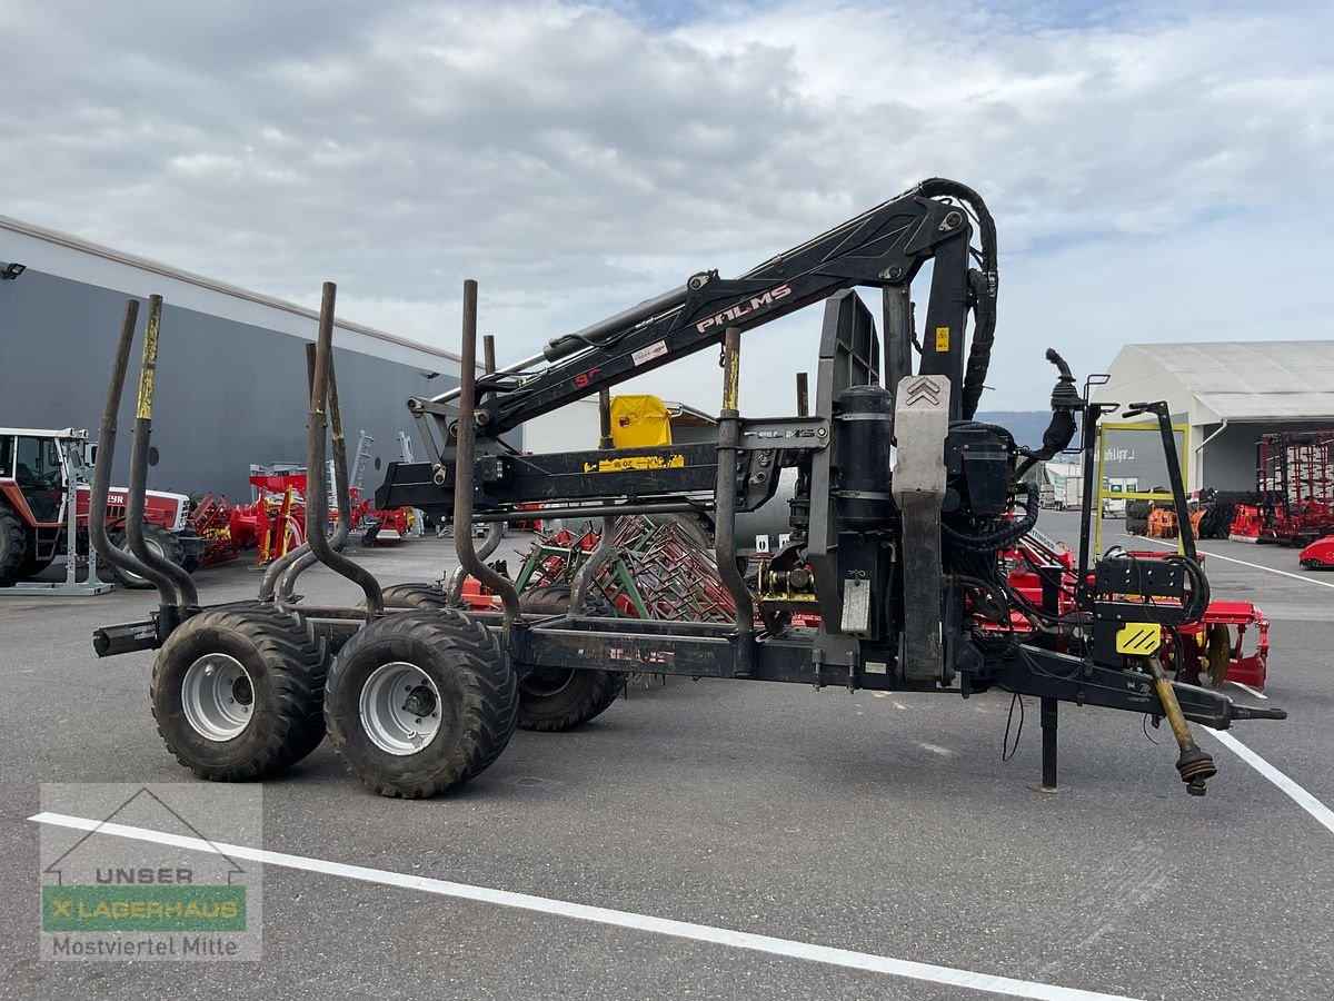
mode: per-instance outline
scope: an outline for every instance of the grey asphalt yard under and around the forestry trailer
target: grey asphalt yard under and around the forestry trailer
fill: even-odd
[[[1075,533],[1063,514],[1045,513],[1039,527]],[[1130,543],[1118,527],[1105,545]],[[1203,549],[1291,574],[1207,561],[1215,597],[1254,601],[1273,621],[1265,705],[1291,714],[1233,734],[1334,803],[1334,594],[1323,586],[1334,574],[1299,570],[1294,550]],[[447,554],[447,542],[424,539],[358,559],[392,583],[436,578]],[[240,565],[197,579],[211,602],[257,585]],[[356,598],[323,570],[300,590]],[[93,626],[141,618],[149,603],[120,590],[0,598],[0,997],[998,997],[942,976],[279,865],[263,870],[257,964],[39,960],[43,825],[28,818],[41,783],[216,789],[180,769],[153,730],[152,655],[92,654]],[[1063,709],[1062,790],[1034,791],[1037,705],[1002,761],[1009,713],[999,693],[670,679],[632,689],[579,731],[518,733],[484,774],[432,801],[379,798],[321,746],[263,785],[261,848],[1011,977],[1034,992],[1334,996],[1334,831],[1209,735],[1201,743],[1219,775],[1206,798],[1187,797],[1166,729],[1147,730],[1155,745],[1142,717],[1107,710]]]

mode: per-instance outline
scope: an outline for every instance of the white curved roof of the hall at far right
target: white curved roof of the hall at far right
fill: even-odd
[[[1126,344],[1111,376],[1099,398],[1166,396],[1193,424],[1334,419],[1334,340]]]

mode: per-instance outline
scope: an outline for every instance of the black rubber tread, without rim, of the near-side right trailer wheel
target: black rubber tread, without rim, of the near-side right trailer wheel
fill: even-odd
[[[424,671],[440,693],[440,730],[415,754],[395,755],[367,735],[362,689],[386,663]],[[519,689],[499,641],[470,615],[414,609],[379,619],[334,658],[324,690],[329,743],[343,765],[380,795],[419,799],[476,777],[514,735]]]

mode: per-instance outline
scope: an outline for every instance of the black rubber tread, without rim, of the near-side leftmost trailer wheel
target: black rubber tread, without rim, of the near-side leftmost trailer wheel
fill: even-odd
[[[253,715],[231,741],[199,734],[181,707],[181,682],[200,657],[235,657],[251,677]],[[153,663],[153,719],[167,749],[200,778],[245,782],[291,767],[324,739],[324,650],[271,606],[201,611],[176,629]]]

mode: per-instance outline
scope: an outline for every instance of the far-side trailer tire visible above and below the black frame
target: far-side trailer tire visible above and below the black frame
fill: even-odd
[[[602,594],[591,594],[588,603],[594,615],[615,614]],[[519,607],[535,615],[564,615],[570,587],[534,587],[519,595]],[[624,683],[620,671],[536,667],[519,681],[519,726],[546,733],[572,730],[604,713]]]

